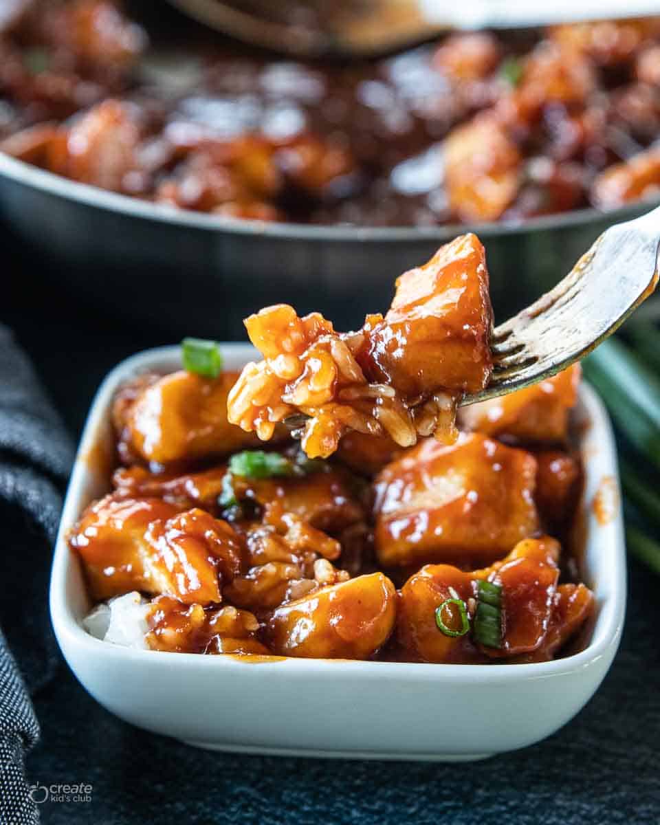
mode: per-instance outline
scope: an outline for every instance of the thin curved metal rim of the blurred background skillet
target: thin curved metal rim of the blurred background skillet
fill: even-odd
[[[157,204],[150,200],[121,195],[101,189],[99,186],[72,181],[67,177],[48,172],[7,153],[0,152],[0,176],[43,191],[49,195],[73,200],[82,205],[96,207],[128,217],[151,220],[156,223],[200,229],[217,234],[257,236],[263,238],[284,238],[286,240],[307,241],[309,243],[413,243],[418,241],[441,241],[455,238],[466,232],[475,232],[483,238],[497,238],[516,234],[542,232],[544,230],[565,229],[567,227],[590,226],[603,221],[619,223],[636,217],[642,211],[660,205],[660,197],[636,200],[614,210],[586,208],[541,215],[520,222],[497,221],[470,224],[439,224],[437,226],[351,226],[349,224],[295,224],[280,221],[262,221],[245,218],[194,212],[176,206]]]

